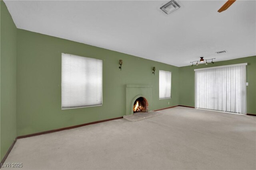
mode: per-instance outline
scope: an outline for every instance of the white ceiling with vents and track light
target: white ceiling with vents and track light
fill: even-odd
[[[256,55],[256,1],[7,1],[16,26],[174,66]],[[216,51],[228,53],[217,55]]]

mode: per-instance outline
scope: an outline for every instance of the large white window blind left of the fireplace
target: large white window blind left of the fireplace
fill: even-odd
[[[62,109],[102,105],[102,60],[62,53]]]

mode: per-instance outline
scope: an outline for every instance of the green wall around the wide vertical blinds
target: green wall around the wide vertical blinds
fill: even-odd
[[[198,64],[198,66],[179,67],[180,105],[195,106],[195,72],[196,68],[222,66],[229,64],[248,63],[246,66],[247,113],[256,114],[256,56],[244,57],[227,61],[215,62],[214,64]]]

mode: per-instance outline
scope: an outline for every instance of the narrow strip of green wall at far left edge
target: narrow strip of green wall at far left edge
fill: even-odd
[[[0,159],[12,145],[16,133],[16,38],[17,29],[0,0]]]

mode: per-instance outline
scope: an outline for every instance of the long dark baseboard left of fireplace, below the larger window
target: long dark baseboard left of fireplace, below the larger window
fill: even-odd
[[[47,133],[64,131],[64,130],[68,130],[68,129],[74,129],[74,128],[78,128],[78,127],[82,127],[82,126],[93,125],[93,124],[96,124],[96,123],[102,123],[102,122],[105,122],[105,121],[111,121],[111,120],[122,119],[122,118],[123,117],[115,117],[115,118],[112,118],[112,119],[105,119],[105,120],[100,120],[100,121],[94,121],[94,122],[90,122],[90,123],[84,123],[84,124],[74,125],[74,126],[69,126],[69,127],[62,127],[60,129],[53,129],[53,130],[49,130],[49,131],[43,131],[43,132],[38,132],[38,133],[32,133],[32,134],[28,134],[28,135],[18,136],[17,139],[22,139],[22,138],[26,138],[26,137],[33,137],[33,136],[38,136],[38,135],[44,135],[44,134],[47,134]]]

